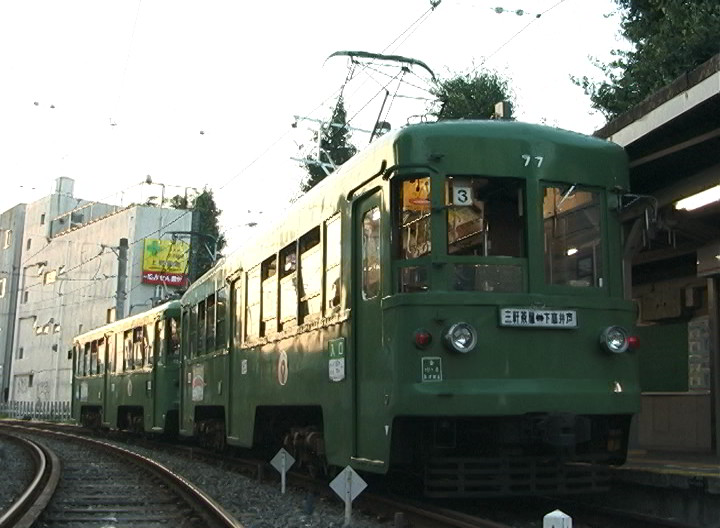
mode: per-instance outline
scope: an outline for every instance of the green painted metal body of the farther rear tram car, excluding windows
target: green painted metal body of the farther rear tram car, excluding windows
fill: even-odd
[[[83,422],[83,411],[99,413],[101,425],[110,428],[133,428],[143,431],[166,430],[168,416],[177,414],[179,406],[179,356],[167,353],[168,341],[159,336],[152,343],[152,360],[142,366],[123,369],[123,336],[125,332],[159,322],[169,325],[179,321],[180,302],[170,301],[138,315],[104,325],[78,335],[73,341],[73,418]],[[86,345],[104,343],[103,366],[92,374],[78,369],[79,352]],[[118,364],[120,362],[120,364]],[[136,417],[131,424],[129,415]],[[97,424],[100,425],[100,424]]]

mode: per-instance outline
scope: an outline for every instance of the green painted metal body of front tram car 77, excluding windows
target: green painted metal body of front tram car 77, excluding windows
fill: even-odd
[[[391,186],[397,179],[418,174],[430,176],[433,184],[433,251],[413,265],[427,268],[430,287],[421,293],[398,293],[398,274],[407,264],[392,256]],[[526,182],[524,257],[457,257],[440,251],[447,247],[444,182],[458,175]],[[605,248],[601,287],[546,283],[542,223],[546,183],[600,193]],[[238,321],[242,324],[245,302],[244,290],[238,289],[238,299],[229,297],[231,324],[222,346],[192,357],[183,353],[181,433],[194,434],[198,408],[217,408],[227,441],[249,447],[262,438],[258,429],[265,427],[262,422],[268,416],[288,421],[296,410],[303,416],[303,423],[297,425],[305,425],[308,409],[316,409],[331,465],[385,473],[393,457],[413,444],[412,438],[394,434],[399,420],[454,417],[482,425],[492,418],[543,413],[631,416],[639,410],[637,355],[609,354],[599,344],[604,328],[630,328],[633,321],[631,303],[622,298],[617,215],[620,194],[627,188],[622,149],[572,132],[514,122],[444,122],[384,136],[184,296],[183,306],[191,306],[220,288],[230,291],[236,281],[246,279],[248,270],[333,215],[341,216],[339,306],[291,329],[248,338],[235,328]],[[381,290],[368,301],[359,290],[360,219],[373,207],[381,212]],[[461,262],[518,266],[523,289],[453,291],[449,270]],[[327,300],[328,293],[324,295]],[[578,326],[503,327],[499,311],[508,307],[575,310]],[[442,333],[457,321],[478,331],[477,346],[468,354],[451,352],[442,342]],[[418,328],[433,336],[423,349],[413,342]],[[442,365],[438,379],[423,377],[430,358]]]

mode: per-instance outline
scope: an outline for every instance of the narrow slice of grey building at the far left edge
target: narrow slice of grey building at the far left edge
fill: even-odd
[[[25,204],[0,214],[0,402],[8,400]]]

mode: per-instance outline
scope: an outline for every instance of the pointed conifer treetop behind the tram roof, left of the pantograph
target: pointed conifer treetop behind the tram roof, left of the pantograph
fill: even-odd
[[[342,97],[335,105],[330,123],[324,124],[320,132],[315,133],[313,141],[317,144],[318,140],[318,157],[306,156],[303,162],[303,167],[308,173],[307,179],[301,184],[303,192],[308,192],[315,187],[335,168],[352,158],[357,152],[357,148],[350,143],[347,112]]]

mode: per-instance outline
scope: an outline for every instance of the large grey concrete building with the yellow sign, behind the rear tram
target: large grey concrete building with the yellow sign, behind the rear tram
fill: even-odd
[[[143,282],[145,241],[190,231],[191,219],[190,211],[76,199],[69,178],[27,205],[10,400],[69,400],[73,336],[171,293],[166,284]]]

